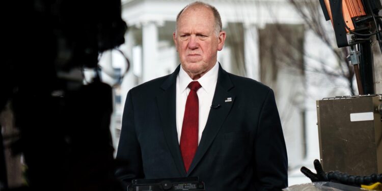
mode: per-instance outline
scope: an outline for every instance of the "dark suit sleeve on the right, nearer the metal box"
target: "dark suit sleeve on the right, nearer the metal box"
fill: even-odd
[[[288,186],[288,159],[277,110],[271,89],[261,108],[255,138],[256,190],[281,190]]]

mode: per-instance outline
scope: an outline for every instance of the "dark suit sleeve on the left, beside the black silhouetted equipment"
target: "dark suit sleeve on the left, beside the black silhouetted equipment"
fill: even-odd
[[[144,178],[141,148],[134,125],[134,108],[131,90],[127,93],[124,112],[122,116],[122,128],[117,149],[117,161],[121,166],[116,171],[116,176],[126,185],[132,179]]]

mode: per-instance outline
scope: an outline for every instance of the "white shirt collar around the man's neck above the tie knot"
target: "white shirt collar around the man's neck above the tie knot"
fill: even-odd
[[[197,80],[199,81],[199,84],[207,93],[210,93],[211,90],[213,90],[214,86],[216,86],[217,73],[219,73],[218,62],[216,62],[215,65],[207,73],[205,73],[201,78]],[[186,90],[188,84],[194,80],[189,77],[189,75],[183,70],[182,66],[180,66],[178,76],[179,76],[179,90],[180,92],[183,92],[184,90]]]

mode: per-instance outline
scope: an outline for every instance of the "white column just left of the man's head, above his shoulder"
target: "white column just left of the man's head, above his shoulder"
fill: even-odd
[[[142,48],[142,83],[145,83],[155,78],[155,65],[158,64],[158,28],[153,21],[142,24]]]

